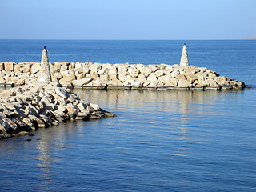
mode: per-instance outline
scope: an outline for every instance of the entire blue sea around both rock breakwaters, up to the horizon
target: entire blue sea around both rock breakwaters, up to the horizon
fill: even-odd
[[[190,65],[246,88],[73,89],[117,117],[0,140],[0,191],[256,191],[255,40],[0,40],[0,62],[46,46],[50,62],[172,65],[184,43]]]

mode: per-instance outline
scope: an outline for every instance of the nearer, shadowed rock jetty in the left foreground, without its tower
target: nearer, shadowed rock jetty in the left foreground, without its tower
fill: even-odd
[[[114,116],[96,104],[82,101],[57,82],[18,86],[0,93],[0,138],[29,134],[66,120]]]

